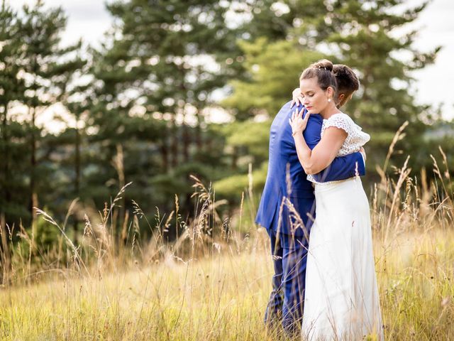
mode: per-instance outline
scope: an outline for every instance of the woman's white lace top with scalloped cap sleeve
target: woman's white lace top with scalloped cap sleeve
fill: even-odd
[[[347,133],[347,138],[343,141],[337,156],[345,156],[360,151],[360,147],[364,146],[370,140],[370,135],[362,131],[362,128],[358,126],[358,124],[355,124],[353,119],[347,114],[333,114],[329,119],[323,119],[321,137],[323,137],[323,131],[330,126],[336,126],[336,128],[343,129]],[[312,183],[318,183],[312,175],[307,175],[307,180]],[[334,182],[336,181],[328,181],[319,184],[323,185]]]

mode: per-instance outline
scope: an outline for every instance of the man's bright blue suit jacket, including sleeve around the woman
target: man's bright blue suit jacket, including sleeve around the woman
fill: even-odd
[[[306,232],[309,232],[312,224],[311,217],[315,215],[315,198],[312,183],[306,179],[307,175],[304,173],[301,163],[299,163],[297,149],[292,137],[289,118],[292,116],[295,107],[291,109],[290,104],[291,102],[284,104],[271,125],[267,180],[255,222],[266,229],[274,230],[277,234],[303,236]],[[299,110],[301,109],[302,105],[299,107]],[[304,111],[305,115],[306,111]],[[309,117],[303,135],[306,144],[311,149],[321,139],[322,123],[323,118],[319,114],[311,114],[311,117]],[[359,152],[335,158],[328,168],[314,175],[314,177],[319,182],[326,182],[352,178],[357,173],[359,175],[365,174],[365,164]],[[284,197],[292,202],[299,213],[306,232],[304,227],[294,228],[297,224],[295,224],[295,220],[289,212],[289,205],[282,205]]]

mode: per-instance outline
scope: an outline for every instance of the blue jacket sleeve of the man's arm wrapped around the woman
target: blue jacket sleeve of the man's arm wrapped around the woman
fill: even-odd
[[[304,112],[306,115],[306,112]],[[323,119],[320,115],[314,115],[309,118],[306,129],[304,130],[304,139],[307,146],[314,149],[316,144],[321,140],[321,124]],[[345,180],[353,178],[355,175],[365,175],[365,163],[360,152],[352,153],[347,156],[340,156],[320,173],[312,175],[319,183],[327,181]]]

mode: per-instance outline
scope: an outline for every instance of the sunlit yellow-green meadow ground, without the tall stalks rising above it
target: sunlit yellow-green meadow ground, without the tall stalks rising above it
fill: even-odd
[[[262,324],[272,263],[265,231],[248,251],[82,278],[53,274],[0,292],[2,340],[273,340]],[[452,340],[454,232],[375,235],[387,340]],[[126,270],[128,268],[128,270]],[[52,279],[52,280],[50,280]]]

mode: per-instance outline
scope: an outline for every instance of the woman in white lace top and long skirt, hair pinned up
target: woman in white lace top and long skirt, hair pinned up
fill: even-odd
[[[370,140],[336,107],[332,70],[329,60],[304,70],[299,85],[306,115],[302,109],[289,119],[299,161],[314,183],[316,197],[301,332],[304,340],[362,340],[365,335],[383,340],[369,203],[360,177],[317,183],[311,176]],[[321,141],[311,151],[302,133],[316,113],[323,117]]]

